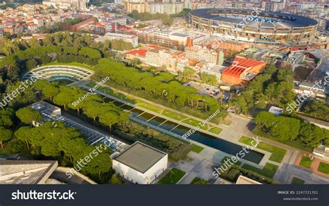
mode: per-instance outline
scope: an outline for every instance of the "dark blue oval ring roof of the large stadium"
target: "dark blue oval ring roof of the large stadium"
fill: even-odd
[[[258,12],[258,13],[257,13]],[[291,28],[291,27],[305,27],[305,26],[314,26],[318,22],[309,17],[303,17],[299,15],[286,14],[281,12],[266,12],[266,11],[257,11],[254,10],[244,10],[237,8],[201,8],[192,10],[189,12],[190,15],[201,17],[204,19],[212,19],[215,21],[221,22],[230,22],[239,24],[242,22],[241,18],[234,18],[233,15],[242,15],[243,17],[251,17],[255,15],[256,17],[264,17],[267,19],[276,19],[278,22],[246,22],[248,26],[258,26],[261,24],[263,27],[279,27],[279,28]],[[221,14],[221,15],[219,15]],[[231,15],[228,17],[228,15]]]

